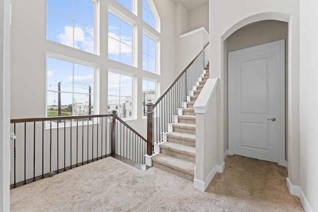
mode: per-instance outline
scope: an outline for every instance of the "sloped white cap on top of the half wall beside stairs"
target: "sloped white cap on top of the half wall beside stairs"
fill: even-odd
[[[195,101],[193,105],[195,113],[206,113],[208,105],[210,104],[212,97],[216,91],[217,85],[218,78],[207,80],[202,91],[198,96],[198,99]]]

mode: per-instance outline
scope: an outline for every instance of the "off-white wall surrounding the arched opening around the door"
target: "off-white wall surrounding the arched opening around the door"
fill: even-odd
[[[288,51],[288,177],[300,184],[299,158],[299,0],[222,0],[209,1],[210,78],[218,77],[218,164],[223,162],[224,148],[224,43],[233,32],[255,21],[289,22]],[[212,48],[213,47],[213,48]]]

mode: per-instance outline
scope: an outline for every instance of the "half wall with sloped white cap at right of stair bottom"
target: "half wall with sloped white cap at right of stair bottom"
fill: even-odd
[[[196,145],[194,187],[205,191],[217,172],[216,88],[218,79],[208,79],[193,105],[196,113]]]

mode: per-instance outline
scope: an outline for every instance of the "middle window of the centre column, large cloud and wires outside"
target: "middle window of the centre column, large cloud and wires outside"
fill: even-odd
[[[133,27],[108,12],[108,59],[133,65]]]

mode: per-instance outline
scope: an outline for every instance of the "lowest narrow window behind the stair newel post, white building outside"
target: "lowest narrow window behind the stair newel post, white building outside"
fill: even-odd
[[[143,91],[142,91],[142,98],[143,98],[143,115],[147,115],[147,104],[155,103],[156,102],[156,82],[150,80],[143,80]]]

